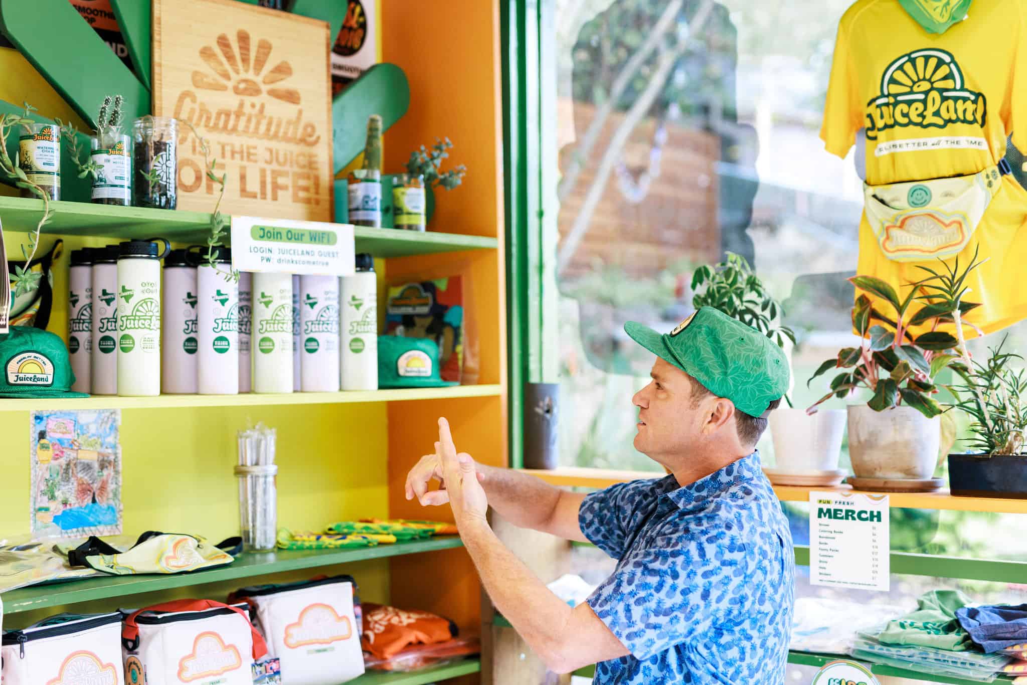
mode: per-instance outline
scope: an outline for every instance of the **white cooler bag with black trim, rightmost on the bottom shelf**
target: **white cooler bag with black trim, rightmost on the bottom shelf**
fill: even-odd
[[[351,576],[243,587],[229,601],[245,601],[256,612],[284,682],[336,685],[364,673],[359,599]]]

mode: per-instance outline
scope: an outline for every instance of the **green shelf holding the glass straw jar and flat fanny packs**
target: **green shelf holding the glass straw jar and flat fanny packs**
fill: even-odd
[[[47,607],[88,602],[90,600],[140,595],[142,593],[152,593],[173,587],[203,585],[224,580],[238,580],[270,573],[281,573],[283,571],[336,566],[338,564],[363,562],[369,559],[385,559],[387,557],[415,555],[461,546],[463,546],[463,542],[458,536],[453,535],[413,542],[380,544],[377,547],[360,547],[357,549],[244,553],[239,555],[231,565],[211,569],[210,571],[173,575],[106,575],[97,578],[85,578],[83,580],[21,587],[4,593],[0,599],[3,599],[4,615],[10,615],[23,611],[45,609]]]

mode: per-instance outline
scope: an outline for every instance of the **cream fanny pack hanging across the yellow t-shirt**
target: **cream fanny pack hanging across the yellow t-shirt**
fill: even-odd
[[[971,176],[863,184],[864,210],[884,256],[896,262],[945,259],[969,243],[1001,177],[1005,160]]]

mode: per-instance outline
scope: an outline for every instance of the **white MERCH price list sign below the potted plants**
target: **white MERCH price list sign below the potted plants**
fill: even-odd
[[[887,592],[888,511],[887,495],[810,492],[810,582]]]

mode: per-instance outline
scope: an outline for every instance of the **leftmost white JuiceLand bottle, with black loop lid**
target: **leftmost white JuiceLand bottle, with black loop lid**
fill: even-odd
[[[163,243],[158,249],[157,241]],[[166,238],[118,245],[118,394],[160,394],[160,260]]]

